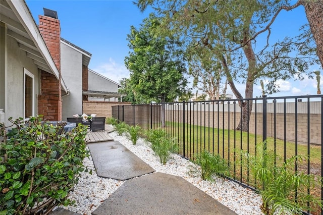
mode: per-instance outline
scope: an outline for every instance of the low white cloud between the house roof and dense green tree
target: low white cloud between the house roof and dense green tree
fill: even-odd
[[[109,59],[109,62],[101,64],[93,70],[116,82],[120,82],[122,78],[129,78],[126,66],[117,64],[112,58]]]

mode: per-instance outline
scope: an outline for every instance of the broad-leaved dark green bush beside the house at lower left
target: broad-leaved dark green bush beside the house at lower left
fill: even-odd
[[[10,132],[0,126],[0,214],[43,214],[73,204],[67,196],[84,171],[87,128],[64,133],[64,125],[42,124],[40,117],[9,121],[16,126]]]

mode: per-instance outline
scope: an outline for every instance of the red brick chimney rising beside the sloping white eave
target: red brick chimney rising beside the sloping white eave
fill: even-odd
[[[39,15],[39,31],[46,43],[51,58],[59,70],[59,80],[45,71],[40,73],[40,94],[38,96],[38,114],[45,121],[62,121],[61,92],[61,26],[57,12],[44,9]]]

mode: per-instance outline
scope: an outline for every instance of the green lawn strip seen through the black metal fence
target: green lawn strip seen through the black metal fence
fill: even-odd
[[[182,153],[184,153],[185,144],[185,156],[187,157],[191,157],[194,153],[201,152],[205,148],[210,152],[222,155],[223,158],[232,160],[235,152],[237,154],[239,150],[254,154],[256,145],[262,143],[262,135],[235,130],[185,124],[185,135],[183,135],[183,124],[174,122],[167,122],[165,130],[170,137],[176,137],[181,142]],[[183,142],[184,138],[185,142]],[[295,145],[293,142],[286,141],[285,143],[284,140],[267,137],[267,148],[276,151],[283,157],[284,155],[286,158],[294,156],[296,147],[298,154],[307,155],[307,145]],[[320,164],[320,149],[320,146],[310,145],[311,163]]]

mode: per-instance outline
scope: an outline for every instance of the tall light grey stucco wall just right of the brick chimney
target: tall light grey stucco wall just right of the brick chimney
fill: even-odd
[[[61,42],[61,73],[70,91],[63,96],[62,120],[82,113],[82,53]]]

